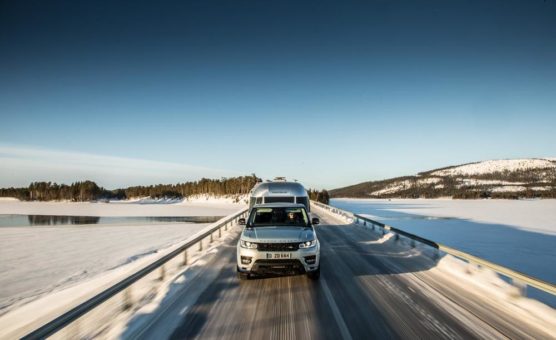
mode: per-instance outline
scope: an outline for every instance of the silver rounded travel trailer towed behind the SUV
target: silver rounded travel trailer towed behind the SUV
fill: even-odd
[[[283,177],[274,181],[261,182],[255,185],[249,195],[249,209],[255,204],[265,203],[298,203],[310,211],[307,190],[297,182],[288,182]]]

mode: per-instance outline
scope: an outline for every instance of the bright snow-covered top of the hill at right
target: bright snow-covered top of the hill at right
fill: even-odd
[[[438,170],[432,173],[436,176],[470,176],[483,175],[493,172],[525,171],[531,169],[556,169],[556,163],[549,159],[501,159],[489,160],[456,166],[454,168]]]

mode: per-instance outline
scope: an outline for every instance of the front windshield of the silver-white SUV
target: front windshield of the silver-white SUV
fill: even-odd
[[[256,208],[249,217],[252,227],[309,226],[309,218],[303,208]]]

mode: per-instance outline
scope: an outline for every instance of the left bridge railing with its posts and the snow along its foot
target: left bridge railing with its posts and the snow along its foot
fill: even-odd
[[[188,264],[188,250],[190,248],[198,247],[198,251],[202,251],[203,247],[212,243],[214,238],[222,236],[223,229],[227,231],[229,227],[237,223],[239,218],[245,217],[246,214],[247,209],[243,209],[221,219],[205,232],[186,241],[168,254],[161,256],[109,288],[54,317],[35,330],[26,333],[22,339],[95,337],[94,332],[98,333],[102,330],[105,322],[112,321],[114,317],[121,314],[120,312],[129,311],[141,299],[148,299],[149,295],[152,297],[153,288],[156,288],[153,286],[156,285],[156,282],[162,284],[165,276],[168,275],[170,262],[183,268]],[[92,314],[96,315],[91,316]],[[90,316],[94,322],[79,322],[87,316]],[[91,332],[93,332],[92,336]]]

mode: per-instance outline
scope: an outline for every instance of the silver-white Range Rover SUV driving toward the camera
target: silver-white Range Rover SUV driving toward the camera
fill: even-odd
[[[320,276],[320,244],[303,204],[255,205],[237,244],[237,272],[242,280],[252,274],[307,273]]]

